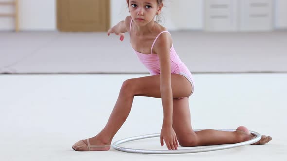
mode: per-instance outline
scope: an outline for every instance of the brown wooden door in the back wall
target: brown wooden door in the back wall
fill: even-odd
[[[110,26],[110,0],[57,0],[57,28],[63,32],[102,32]]]

